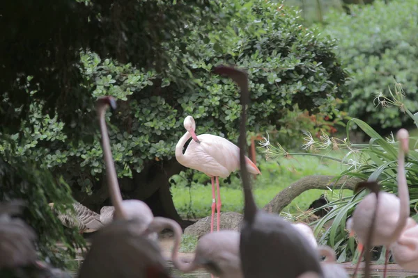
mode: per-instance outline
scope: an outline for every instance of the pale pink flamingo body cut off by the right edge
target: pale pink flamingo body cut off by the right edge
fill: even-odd
[[[401,268],[418,271],[418,224],[413,218],[408,218],[401,236],[390,249]]]

